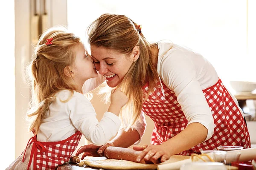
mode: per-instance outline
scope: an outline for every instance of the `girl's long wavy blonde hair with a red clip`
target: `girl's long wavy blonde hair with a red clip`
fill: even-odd
[[[46,45],[47,39],[50,38],[52,45]],[[76,57],[75,50],[80,44],[80,38],[69,33],[64,27],[50,28],[38,40],[33,61],[29,65],[32,102],[27,116],[31,121],[29,131],[34,134],[38,133],[41,120],[44,119],[49,105],[55,101],[58,91],[70,90],[70,97],[74,91],[78,91],[76,85],[64,74],[64,68],[72,66]]]

